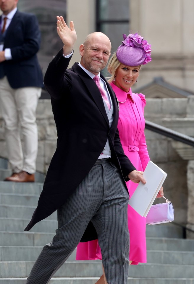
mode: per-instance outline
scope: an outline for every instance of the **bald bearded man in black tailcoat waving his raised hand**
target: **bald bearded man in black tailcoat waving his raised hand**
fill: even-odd
[[[124,154],[117,130],[117,99],[100,75],[111,43],[103,33],[88,35],[80,46],[80,63],[67,70],[77,38],[73,22],[68,28],[63,17],[57,16],[57,32],[64,46],[44,78],[51,95],[57,147],[38,207],[25,230],[56,209],[58,229],[26,283],[48,283],[80,240],[98,237],[107,282],[125,284],[129,266],[125,180],[145,180]]]

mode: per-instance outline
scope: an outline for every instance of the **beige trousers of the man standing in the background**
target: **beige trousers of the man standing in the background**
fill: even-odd
[[[41,88],[13,89],[7,77],[0,79],[0,108],[5,121],[8,159],[13,172],[34,173],[38,151],[36,107]],[[21,137],[23,143],[21,143]]]

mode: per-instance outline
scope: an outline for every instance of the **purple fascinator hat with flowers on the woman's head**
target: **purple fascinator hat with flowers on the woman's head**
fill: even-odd
[[[123,35],[124,41],[117,49],[117,59],[127,66],[139,66],[151,61],[151,44],[135,34]]]

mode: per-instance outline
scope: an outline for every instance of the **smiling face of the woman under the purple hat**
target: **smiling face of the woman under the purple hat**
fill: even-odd
[[[128,93],[129,89],[136,82],[140,71],[140,65],[131,67],[120,64],[115,72],[114,85]]]

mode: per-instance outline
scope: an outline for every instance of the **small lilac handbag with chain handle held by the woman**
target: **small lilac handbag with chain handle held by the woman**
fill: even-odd
[[[162,196],[166,199],[164,196]],[[172,203],[166,199],[166,203],[152,205],[147,216],[146,224],[155,225],[168,223],[174,220],[174,209]]]

